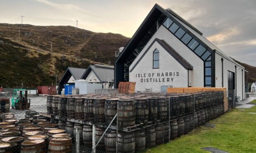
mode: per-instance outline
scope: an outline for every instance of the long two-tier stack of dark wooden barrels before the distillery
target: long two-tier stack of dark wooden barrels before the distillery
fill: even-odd
[[[91,94],[52,97],[53,114],[84,121],[60,121],[59,127],[92,148],[95,124],[97,152],[135,152],[187,134],[224,113],[223,92]],[[50,106],[50,104],[49,104]],[[117,118],[114,116],[117,114]],[[104,138],[106,127],[111,123]]]

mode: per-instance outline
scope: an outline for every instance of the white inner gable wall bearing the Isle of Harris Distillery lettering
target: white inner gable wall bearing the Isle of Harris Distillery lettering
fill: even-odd
[[[155,49],[159,50],[158,69],[153,69],[153,52]],[[161,91],[161,86],[187,87],[187,73],[188,71],[173,56],[155,42],[130,72],[129,79],[136,82],[135,90],[137,91],[143,91],[146,88]]]

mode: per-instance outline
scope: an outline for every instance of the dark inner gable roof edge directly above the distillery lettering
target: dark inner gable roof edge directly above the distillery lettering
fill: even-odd
[[[175,58],[175,60],[178,61],[178,63],[180,63],[180,65],[182,65],[185,69],[187,70],[193,70],[193,66],[187,62],[187,60],[185,60],[185,58],[183,58],[177,51],[175,51],[167,42],[165,42],[164,40],[160,40],[158,38],[155,38],[154,41],[150,44],[150,46],[147,48],[147,50],[143,53],[143,55],[139,58],[139,60],[137,60],[137,62],[135,63],[135,65],[133,65],[133,67],[131,68],[130,72],[133,71],[133,69],[136,67],[136,65],[140,62],[140,60],[145,56],[145,54],[147,53],[147,51],[149,51],[149,49],[152,47],[152,45],[158,42],[171,56],[173,56],[173,58]]]

